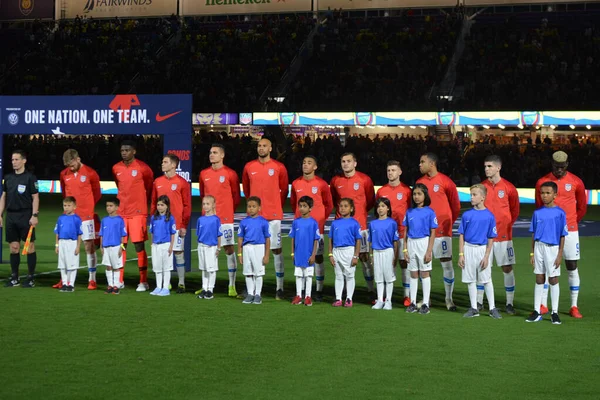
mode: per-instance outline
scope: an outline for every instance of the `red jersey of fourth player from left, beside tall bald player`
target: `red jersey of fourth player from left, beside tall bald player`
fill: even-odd
[[[208,167],[200,172],[200,196],[215,198],[216,214],[221,224],[233,224],[233,214],[240,204],[240,180],[234,170],[222,166]]]

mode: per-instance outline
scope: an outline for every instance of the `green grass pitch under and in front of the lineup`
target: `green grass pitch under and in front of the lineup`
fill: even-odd
[[[52,228],[59,205],[56,196],[42,197],[39,273],[56,268]],[[194,209],[200,208],[195,204]],[[531,215],[528,209],[522,214]],[[599,219],[598,214],[592,209],[586,219]],[[287,239],[284,245],[289,255]],[[8,247],[3,246],[7,260]],[[371,310],[359,271],[354,308],[332,308],[331,267],[326,270],[327,302],[311,308],[277,302],[272,261],[264,303],[242,305],[225,295],[224,256],[212,301],[191,293],[166,298],[136,293],[135,262],[127,264],[128,287],[120,296],[87,291],[85,269],[75,293],[50,288],[58,273],[39,276],[32,290],[0,287],[0,399],[597,399],[598,239],[581,239],[583,320],[567,314],[570,297],[563,267],[560,326],[547,316],[540,323],[525,323],[534,287],[527,264],[530,240],[516,239],[515,247],[518,315],[503,312],[499,321],[487,314],[462,318],[468,295],[458,267],[459,313],[446,311],[438,261],[427,316],[404,312],[399,283],[393,311]],[[84,256],[81,260],[85,263]],[[196,260],[194,255],[193,272],[186,277],[190,291],[201,282]],[[25,257],[21,271],[26,271]],[[9,273],[7,263],[0,265],[0,279]],[[496,302],[503,306],[500,269],[493,276]],[[98,278],[104,286],[103,268]],[[244,287],[239,273],[237,287]],[[286,256],[286,295],[294,291]]]

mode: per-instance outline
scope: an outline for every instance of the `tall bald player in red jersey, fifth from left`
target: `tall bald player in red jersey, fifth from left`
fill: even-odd
[[[275,299],[283,300],[284,266],[281,254],[281,220],[283,203],[288,195],[288,174],[285,165],[271,159],[271,141],[258,141],[258,159],[248,162],[242,173],[242,187],[246,198],[256,196],[262,203],[261,216],[269,221],[271,252],[275,264],[277,293]]]

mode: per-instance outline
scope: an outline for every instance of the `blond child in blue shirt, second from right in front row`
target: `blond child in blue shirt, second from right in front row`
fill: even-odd
[[[458,265],[462,269],[462,281],[467,284],[471,308],[463,315],[465,318],[479,316],[477,310],[477,285],[483,285],[490,306],[490,317],[501,319],[500,311],[494,300],[492,283],[492,248],[496,231],[494,214],[485,208],[487,189],[482,184],[471,186],[471,205],[465,212],[458,227]]]

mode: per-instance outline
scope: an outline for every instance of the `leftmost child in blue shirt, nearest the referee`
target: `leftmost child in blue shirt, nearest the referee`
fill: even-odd
[[[56,254],[58,254],[58,269],[63,286],[61,292],[75,290],[75,278],[79,268],[79,248],[81,247],[81,218],[75,214],[75,198],[67,196],[63,200],[64,214],[58,217],[54,233],[56,233]]]

